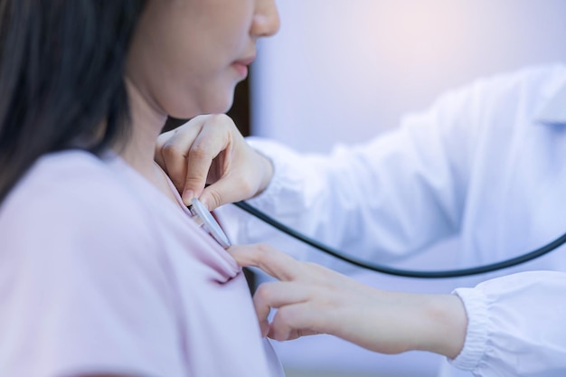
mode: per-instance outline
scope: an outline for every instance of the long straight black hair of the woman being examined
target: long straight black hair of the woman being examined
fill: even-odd
[[[0,0],[0,203],[42,155],[129,132],[127,51],[146,0]]]

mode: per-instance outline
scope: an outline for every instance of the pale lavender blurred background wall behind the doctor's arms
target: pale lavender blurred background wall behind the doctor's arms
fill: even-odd
[[[566,61],[564,0],[278,0],[278,6],[281,31],[260,42],[250,78],[252,133],[303,151],[375,136],[478,76]],[[448,266],[439,254],[450,247],[458,240],[403,265]],[[356,278],[427,292],[456,284]],[[289,376],[301,377],[315,371],[426,377],[441,360],[376,355],[324,336],[278,344],[278,352]]]

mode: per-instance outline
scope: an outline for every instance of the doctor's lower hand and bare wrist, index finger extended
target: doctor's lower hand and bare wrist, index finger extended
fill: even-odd
[[[229,251],[241,266],[279,280],[261,284],[253,297],[264,336],[329,334],[378,353],[423,350],[451,358],[463,347],[467,316],[456,296],[376,289],[262,244]],[[272,308],[278,310],[269,323]]]

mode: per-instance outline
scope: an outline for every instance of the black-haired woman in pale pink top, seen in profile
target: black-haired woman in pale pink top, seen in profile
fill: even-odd
[[[2,375],[282,375],[153,161],[277,29],[272,0],[0,0]]]

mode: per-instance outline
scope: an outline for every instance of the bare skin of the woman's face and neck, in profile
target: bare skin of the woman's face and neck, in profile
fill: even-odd
[[[256,42],[278,27],[274,0],[147,2],[127,53],[132,133],[118,154],[171,197],[154,162],[167,116],[193,118],[230,108],[234,87],[255,59]]]

